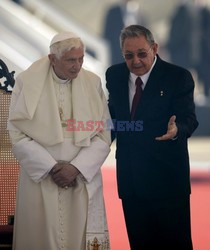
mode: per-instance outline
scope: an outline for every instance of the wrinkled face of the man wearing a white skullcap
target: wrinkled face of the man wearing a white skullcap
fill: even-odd
[[[63,79],[75,79],[83,64],[84,49],[74,48],[65,52],[59,59],[54,54],[49,55],[49,60],[56,75]]]

